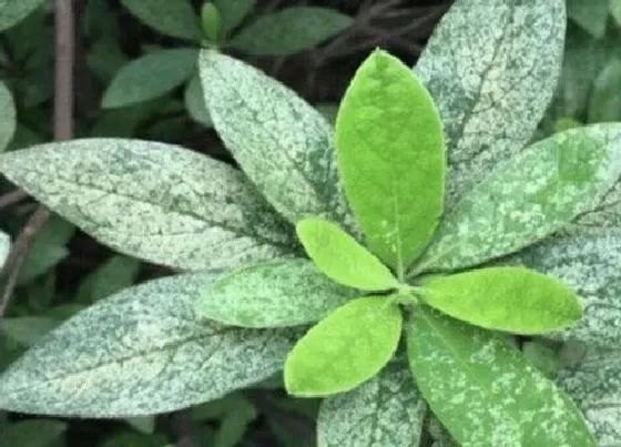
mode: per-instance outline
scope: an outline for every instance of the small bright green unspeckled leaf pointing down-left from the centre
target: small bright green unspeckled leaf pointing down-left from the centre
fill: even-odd
[[[285,363],[285,387],[304,397],[348,392],[390,360],[400,336],[401,313],[386,297],[352,301],[297,342]]]

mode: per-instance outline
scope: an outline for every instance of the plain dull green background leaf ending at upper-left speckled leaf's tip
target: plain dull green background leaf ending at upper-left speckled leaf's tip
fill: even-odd
[[[154,51],[129,62],[105,90],[102,106],[124,108],[162,96],[192,75],[196,55],[194,49],[179,48]]]

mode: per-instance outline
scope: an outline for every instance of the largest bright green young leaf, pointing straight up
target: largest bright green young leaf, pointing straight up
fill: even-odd
[[[425,87],[399,60],[375,51],[338,111],[338,169],[368,247],[399,278],[442,213],[442,144],[440,116]]]

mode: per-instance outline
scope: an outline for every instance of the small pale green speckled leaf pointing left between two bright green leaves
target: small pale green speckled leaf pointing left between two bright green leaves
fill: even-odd
[[[231,326],[298,326],[322,319],[354,293],[306,260],[277,261],[222,277],[203,293],[197,313]]]

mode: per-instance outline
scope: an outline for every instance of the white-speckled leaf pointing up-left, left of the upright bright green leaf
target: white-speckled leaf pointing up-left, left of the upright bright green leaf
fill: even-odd
[[[198,65],[217,133],[274,207],[294,223],[308,214],[343,223],[333,130],[322,114],[235,59],[203,50]]]

